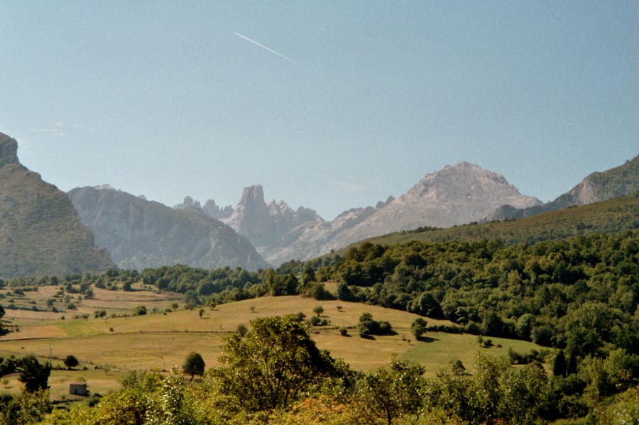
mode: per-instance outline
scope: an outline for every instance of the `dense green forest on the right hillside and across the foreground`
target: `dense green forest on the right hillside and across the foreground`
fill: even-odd
[[[339,282],[335,293],[325,289],[327,281]],[[265,295],[337,297],[452,322],[427,327],[427,332],[472,333],[479,341],[491,336],[518,338],[549,351],[537,356],[510,353],[506,359],[479,355],[472,375],[466,372],[468,365],[454,364],[426,380],[419,365],[402,360],[364,374],[313,348],[307,325],[299,318],[272,318],[252,323],[244,336],[229,338],[226,368],[207,370],[193,381],[177,373],[153,379],[144,375],[136,384],[141,387],[125,385],[94,407],[57,412],[47,423],[288,424],[302,418],[314,423],[312,418],[323,417],[324,423],[346,424],[368,417],[366,423],[387,424],[621,424],[639,418],[632,410],[639,404],[639,231],[517,245],[496,239],[364,243],[343,255],[292,262],[277,270],[175,265],[94,276],[15,278],[1,284],[28,291],[53,283],[91,297],[92,287],[126,291],[134,282],[180,292],[192,307]],[[5,308],[11,309],[11,304]],[[279,330],[273,331],[273,326]],[[276,334],[286,341],[269,339]],[[283,356],[283,363],[278,363],[283,369],[260,370],[264,362],[251,360],[265,347]],[[285,367],[300,359],[306,359],[304,367]],[[244,369],[233,372],[235,367]],[[308,380],[291,378],[304,368],[309,368]],[[244,381],[242,373],[249,374]],[[291,378],[298,386],[285,395],[275,390],[281,390],[280,383],[256,387],[252,399],[250,386],[260,374]],[[415,394],[420,395],[411,398]],[[171,397],[177,397],[177,404],[171,404]],[[382,397],[375,412],[373,404],[361,402],[374,397]],[[108,409],[127,403],[146,407],[138,419],[119,421],[126,416],[123,412],[114,414],[112,421],[104,419]],[[178,416],[162,409],[178,409],[175,414],[182,419],[171,422],[167,418]],[[152,421],[152,412],[165,413]],[[618,412],[630,414],[635,422],[621,421],[618,418],[625,416]]]

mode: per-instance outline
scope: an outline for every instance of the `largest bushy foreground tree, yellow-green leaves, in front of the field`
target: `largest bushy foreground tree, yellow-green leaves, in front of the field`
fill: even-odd
[[[295,316],[251,321],[245,336],[234,333],[214,368],[221,391],[249,412],[288,407],[325,377],[339,375],[336,361],[320,351]]]

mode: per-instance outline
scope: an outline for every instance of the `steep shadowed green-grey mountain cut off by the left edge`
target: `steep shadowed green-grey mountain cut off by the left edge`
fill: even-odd
[[[114,267],[53,184],[18,161],[18,142],[0,133],[0,277],[67,275]]]

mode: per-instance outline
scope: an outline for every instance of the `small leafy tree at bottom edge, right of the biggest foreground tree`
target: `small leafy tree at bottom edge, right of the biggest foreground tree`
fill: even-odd
[[[424,368],[393,358],[388,368],[369,373],[357,383],[359,409],[371,422],[375,418],[388,425],[403,414],[417,414],[425,396]]]

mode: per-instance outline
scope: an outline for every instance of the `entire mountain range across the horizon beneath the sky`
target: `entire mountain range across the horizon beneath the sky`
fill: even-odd
[[[191,197],[170,208],[109,185],[64,194],[23,167],[16,140],[0,133],[0,277],[100,271],[114,263],[138,270],[176,263],[256,270],[373,236],[518,219],[638,191],[639,156],[592,173],[547,204],[520,194],[502,175],[460,162],[426,175],[397,199],[349,209],[332,221],[304,206],[267,203],[259,184],[246,187],[235,208]]]

